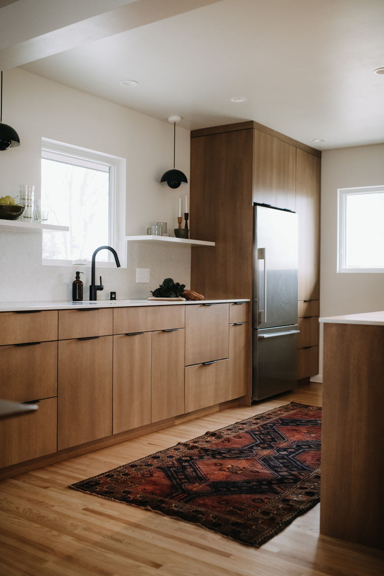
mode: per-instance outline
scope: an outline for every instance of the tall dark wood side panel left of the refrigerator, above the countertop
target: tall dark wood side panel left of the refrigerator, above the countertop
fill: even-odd
[[[191,139],[191,289],[252,298],[253,128]]]

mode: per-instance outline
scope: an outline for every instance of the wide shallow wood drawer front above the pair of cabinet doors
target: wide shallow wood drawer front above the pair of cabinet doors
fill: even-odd
[[[113,334],[184,328],[185,306],[132,306],[113,310]]]

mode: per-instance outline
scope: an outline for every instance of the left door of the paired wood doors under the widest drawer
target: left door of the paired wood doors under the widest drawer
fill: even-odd
[[[113,434],[151,422],[152,333],[113,336]]]

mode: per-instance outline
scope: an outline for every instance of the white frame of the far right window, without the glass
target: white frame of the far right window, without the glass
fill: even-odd
[[[372,194],[384,192],[384,185],[362,186],[358,188],[337,189],[337,272],[342,274],[384,273],[384,268],[346,268],[345,267],[345,209],[347,196],[352,194]]]

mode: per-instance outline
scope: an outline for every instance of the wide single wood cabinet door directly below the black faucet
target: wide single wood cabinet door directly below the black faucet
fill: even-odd
[[[112,338],[59,341],[58,450],[112,434]]]

